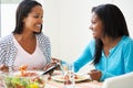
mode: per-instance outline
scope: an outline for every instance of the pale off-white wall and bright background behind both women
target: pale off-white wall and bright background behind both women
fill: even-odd
[[[21,0],[1,0],[0,37],[14,30],[16,9]],[[44,10],[43,32],[50,37],[52,57],[73,62],[92,38],[91,9],[102,3],[116,4],[123,12],[133,37],[132,0],[37,0]],[[86,65],[88,66],[88,65]],[[86,67],[85,66],[85,67]],[[91,68],[91,67],[90,67]]]

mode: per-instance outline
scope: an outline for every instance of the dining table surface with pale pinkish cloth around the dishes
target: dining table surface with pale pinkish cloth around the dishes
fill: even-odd
[[[61,75],[61,73],[53,73],[52,76],[58,76]],[[58,81],[55,79],[52,79],[52,76],[47,79],[44,88],[64,88],[63,81]],[[103,81],[96,81],[96,80],[91,80],[85,79],[82,81],[75,81],[74,88],[102,88]],[[0,88],[4,88],[3,84],[0,79]]]

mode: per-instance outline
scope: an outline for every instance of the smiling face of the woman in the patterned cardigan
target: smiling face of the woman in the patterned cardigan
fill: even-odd
[[[39,33],[42,25],[43,10],[42,7],[35,6],[31,12],[23,19],[23,31]]]

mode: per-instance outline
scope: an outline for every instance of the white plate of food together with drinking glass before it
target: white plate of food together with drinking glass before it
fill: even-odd
[[[75,88],[75,84],[91,80],[88,74],[78,74],[73,72],[72,64],[59,64],[60,70],[54,70],[51,79],[59,84],[63,84],[64,88]],[[79,87],[76,87],[79,88]]]

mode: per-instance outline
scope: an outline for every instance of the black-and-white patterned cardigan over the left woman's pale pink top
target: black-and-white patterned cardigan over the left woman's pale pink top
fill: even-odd
[[[43,33],[37,34],[37,40],[39,42],[39,47],[47,58],[47,63],[51,61],[51,46],[50,40]],[[10,67],[13,66],[14,58],[17,54],[17,47],[13,43],[13,34],[0,38],[0,65],[4,64]]]

